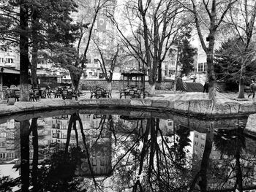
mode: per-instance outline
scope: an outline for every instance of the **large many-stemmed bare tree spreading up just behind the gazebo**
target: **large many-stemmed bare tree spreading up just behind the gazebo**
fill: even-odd
[[[162,78],[162,61],[188,23],[178,17],[182,9],[176,0],[128,1],[122,9],[126,11],[122,23],[113,15],[110,18],[121,41],[148,71],[148,93],[153,94],[157,79]]]

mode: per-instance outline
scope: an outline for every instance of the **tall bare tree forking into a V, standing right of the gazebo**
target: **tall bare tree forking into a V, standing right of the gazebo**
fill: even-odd
[[[217,37],[217,29],[222,24],[225,15],[227,15],[227,11],[233,6],[233,4],[236,3],[236,1],[238,0],[190,0],[189,4],[187,4],[186,1],[179,1],[194,15],[197,34],[203,50],[206,52],[207,78],[209,81],[209,99],[211,99],[213,103],[216,102],[214,45]],[[202,15],[204,17],[202,17]],[[207,28],[206,31],[203,31],[203,28]],[[206,33],[208,34],[208,37],[205,38]]]

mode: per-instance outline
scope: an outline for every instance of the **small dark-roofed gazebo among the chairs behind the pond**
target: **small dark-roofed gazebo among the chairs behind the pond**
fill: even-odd
[[[130,69],[129,71],[122,72],[123,76],[123,89],[125,87],[139,87],[143,90],[143,98],[145,96],[145,73],[137,69]],[[127,85],[124,85],[127,82]]]

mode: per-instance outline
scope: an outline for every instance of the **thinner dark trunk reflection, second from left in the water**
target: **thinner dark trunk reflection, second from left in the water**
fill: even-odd
[[[33,142],[33,168],[32,168],[32,185],[33,191],[38,191],[37,188],[37,169],[38,169],[38,132],[37,132],[37,118],[33,118],[31,122],[32,142]]]

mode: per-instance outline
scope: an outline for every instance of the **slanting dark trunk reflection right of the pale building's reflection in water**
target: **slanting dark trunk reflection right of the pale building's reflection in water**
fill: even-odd
[[[207,169],[208,169],[208,161],[211,154],[213,139],[214,139],[213,133],[206,134],[206,145],[205,145],[205,150],[203,151],[203,158],[202,158],[201,169],[200,169],[201,180],[199,182],[199,185],[200,185],[201,191],[206,191],[207,189]]]

